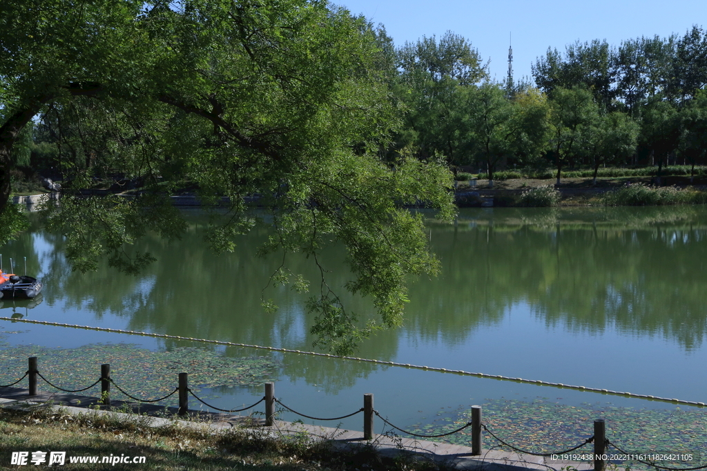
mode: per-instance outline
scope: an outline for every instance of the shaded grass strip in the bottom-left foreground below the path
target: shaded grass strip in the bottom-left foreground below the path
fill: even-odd
[[[13,451],[28,451],[30,457],[33,451],[65,451],[64,467],[70,470],[107,469],[101,463],[69,463],[71,456],[110,455],[146,458],[141,464],[110,466],[114,470],[440,469],[431,461],[385,459],[370,446],[334,452],[329,441],[305,434],[273,437],[262,427],[230,427],[214,432],[205,427],[184,427],[176,420],[161,427],[153,427],[150,422],[150,417],[141,415],[99,415],[90,411],[71,415],[59,408],[0,408],[0,469],[15,469],[10,465]]]

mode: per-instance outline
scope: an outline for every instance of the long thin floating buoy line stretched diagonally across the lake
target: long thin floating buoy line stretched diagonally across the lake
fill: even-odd
[[[129,334],[129,335],[142,335],[144,337],[153,337],[153,338],[172,338],[175,340],[186,340],[189,342],[205,342],[205,343],[211,343],[211,344],[215,344],[215,345],[226,345],[228,347],[257,348],[259,350],[270,350],[271,352],[299,353],[299,354],[305,354],[305,355],[313,355],[315,357],[338,358],[338,359],[354,360],[356,362],[368,362],[368,363],[381,364],[381,365],[387,365],[387,366],[402,366],[404,368],[410,368],[410,369],[422,369],[425,371],[438,371],[440,373],[460,374],[463,376],[476,376],[477,378],[498,379],[499,381],[513,381],[515,383],[534,384],[535,386],[552,386],[554,388],[575,389],[575,390],[580,390],[580,391],[588,391],[590,393],[600,393],[600,394],[605,394],[605,395],[606,394],[619,395],[624,398],[657,400],[657,401],[660,401],[663,403],[683,404],[683,405],[693,405],[693,406],[697,406],[697,407],[705,407],[705,403],[697,403],[697,402],[691,401],[691,400],[660,398],[655,395],[633,394],[633,393],[625,393],[625,392],[614,391],[614,390],[609,390],[609,389],[588,388],[586,386],[573,386],[571,384],[563,384],[563,383],[551,383],[549,381],[539,381],[539,380],[534,380],[534,379],[512,378],[510,376],[501,376],[499,374],[473,373],[471,371],[464,371],[461,369],[446,369],[446,368],[437,368],[435,366],[421,366],[421,365],[409,364],[409,363],[385,362],[383,360],[370,359],[370,358],[339,357],[337,355],[332,355],[329,353],[308,352],[306,350],[291,350],[289,348],[264,347],[262,345],[249,345],[247,343],[224,342],[223,340],[209,340],[209,339],[205,339],[205,338],[180,337],[180,335],[168,335],[168,334],[163,334],[163,333],[136,332],[134,330],[121,330],[121,329],[112,329],[112,328],[107,328],[107,327],[76,326],[74,324],[65,324],[65,323],[49,322],[49,321],[33,321],[31,319],[18,319],[18,318],[11,318],[11,317],[0,317],[0,321],[25,322],[25,323],[40,324],[42,326],[57,326],[57,327],[79,328],[79,329],[84,329],[84,330],[98,330],[99,332],[125,333],[125,334]]]

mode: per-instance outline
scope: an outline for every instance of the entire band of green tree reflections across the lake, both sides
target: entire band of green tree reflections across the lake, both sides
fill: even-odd
[[[457,225],[433,227],[442,273],[411,285],[407,341],[419,348],[460,344],[479,326],[499,323],[514,304],[528,303],[548,326],[592,333],[614,327],[662,335],[688,350],[698,347],[706,330],[707,225],[689,221],[703,220],[705,210],[618,209],[465,211]],[[132,330],[310,350],[314,319],[305,312],[306,295],[270,287],[265,297],[274,298],[280,311],[265,314],[260,306],[261,291],[279,263],[255,256],[267,229],[256,229],[234,253],[221,255],[207,249],[201,229],[193,224],[171,246],[156,237],[140,242],[136,250],[150,251],[158,262],[139,277],[107,267],[71,273],[61,238],[42,233],[55,247],[45,263],[46,302],[61,297],[67,309],[86,309],[99,318],[104,312],[124,316]],[[30,240],[22,248],[27,253]],[[348,270],[340,269],[343,251],[327,249],[321,259],[331,270],[332,286],[343,286],[349,279]],[[289,266],[316,288],[311,261],[293,256]],[[372,311],[366,300],[342,298],[353,311]],[[400,331],[379,333],[361,345],[358,356],[393,359],[400,338]],[[285,365],[287,376],[332,391],[377,368],[303,355],[286,355]]]

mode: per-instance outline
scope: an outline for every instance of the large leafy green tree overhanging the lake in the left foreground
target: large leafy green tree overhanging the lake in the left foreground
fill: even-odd
[[[437,163],[373,152],[397,126],[375,64],[380,49],[362,18],[305,0],[4,0],[0,3],[0,215],[8,204],[13,145],[36,117],[56,138],[64,195],[47,205],[76,268],[102,257],[135,272],[131,251],[148,230],[185,229],[168,194],[185,184],[214,202],[227,196],[209,242],[233,247],[252,226],[245,198],[272,209],[264,253],[348,249],[346,289],[373,297],[383,326],[398,326],[410,273],[433,273],[420,217],[426,201],[449,216],[450,176]],[[79,190],[122,172],[134,198]],[[286,263],[286,258],[283,259]],[[288,275],[286,264],[279,280]],[[303,283],[297,283],[303,287]],[[351,350],[366,327],[322,287],[310,300],[320,345]],[[371,322],[373,319],[371,319]]]

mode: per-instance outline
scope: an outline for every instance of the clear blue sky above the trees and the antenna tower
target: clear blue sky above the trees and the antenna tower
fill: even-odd
[[[467,38],[488,61],[491,78],[508,73],[508,35],[513,34],[513,76],[531,77],[530,64],[548,47],[595,39],[619,45],[636,37],[684,35],[707,27],[707,0],[332,0],[351,13],[382,23],[396,45],[451,30]]]

